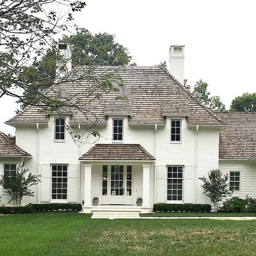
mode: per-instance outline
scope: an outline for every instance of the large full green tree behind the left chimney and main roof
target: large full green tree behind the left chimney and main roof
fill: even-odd
[[[132,58],[128,50],[114,42],[114,36],[108,33],[92,35],[88,30],[81,29],[76,35],[64,36],[58,42],[71,45],[72,68],[78,65],[90,66],[91,69],[96,65],[127,65]],[[48,50],[45,56],[35,58],[32,65],[24,69],[25,83],[30,86],[24,91],[25,99],[19,101],[22,103],[22,109],[33,102],[38,92],[40,95],[55,83],[58,78],[56,62],[59,57],[56,49]]]

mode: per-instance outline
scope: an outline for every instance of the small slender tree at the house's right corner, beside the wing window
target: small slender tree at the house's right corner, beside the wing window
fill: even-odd
[[[208,177],[199,178],[204,182],[201,187],[204,188],[203,194],[210,197],[214,205],[214,211],[218,212],[219,201],[223,197],[231,195],[233,192],[229,189],[228,174],[222,175],[219,169],[211,170],[208,172]]]

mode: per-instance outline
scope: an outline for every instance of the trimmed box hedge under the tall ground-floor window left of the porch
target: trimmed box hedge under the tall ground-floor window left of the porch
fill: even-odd
[[[42,211],[82,211],[81,204],[30,204],[33,211],[42,212]]]

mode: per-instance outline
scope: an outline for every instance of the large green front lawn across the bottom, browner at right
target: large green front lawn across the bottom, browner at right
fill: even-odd
[[[256,221],[6,215],[0,255],[256,255]]]

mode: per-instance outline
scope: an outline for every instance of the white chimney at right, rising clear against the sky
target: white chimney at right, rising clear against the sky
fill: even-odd
[[[171,45],[170,73],[181,84],[184,84],[184,48],[185,45]]]

